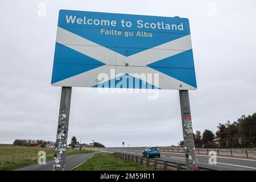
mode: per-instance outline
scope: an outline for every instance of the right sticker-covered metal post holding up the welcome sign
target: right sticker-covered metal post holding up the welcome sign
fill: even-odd
[[[193,139],[193,129],[191,122],[191,111],[189,105],[188,90],[179,90],[180,110],[183,127],[183,139],[185,148],[185,159],[187,170],[198,170],[196,164],[195,143]]]

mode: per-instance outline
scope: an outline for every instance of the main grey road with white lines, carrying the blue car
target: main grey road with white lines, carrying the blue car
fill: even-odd
[[[142,156],[141,150],[124,150],[124,149],[113,149],[104,148],[102,151],[108,152],[123,152],[125,154]],[[256,171],[256,160],[253,159],[238,159],[232,157],[217,156],[217,164],[209,164],[208,155],[196,155],[197,164],[199,167],[210,168],[220,171]],[[184,153],[171,153],[171,152],[161,152],[162,160],[167,160],[170,162],[185,164]]]

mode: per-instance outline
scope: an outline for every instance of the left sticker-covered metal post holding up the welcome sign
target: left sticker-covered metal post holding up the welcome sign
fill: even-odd
[[[53,171],[65,170],[71,92],[72,87],[63,86],[61,88],[59,122],[57,126]]]

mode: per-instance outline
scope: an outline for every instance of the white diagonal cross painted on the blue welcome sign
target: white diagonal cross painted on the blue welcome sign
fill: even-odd
[[[73,77],[69,77],[65,80],[61,80],[54,83],[53,85],[80,86],[81,83],[87,86],[98,85],[100,83],[97,82],[97,76],[100,73],[108,74],[109,80],[116,78],[117,73],[138,73],[138,75],[141,73],[158,73],[160,78],[158,87],[161,89],[170,88],[170,84],[172,85],[172,88],[176,89],[179,89],[180,84],[183,84],[183,87],[186,89],[196,89],[191,85],[185,84],[184,82],[176,80],[175,78],[172,78],[162,72],[147,67],[148,64],[154,63],[155,61],[159,61],[191,49],[192,46],[190,35],[183,36],[179,39],[172,40],[171,42],[164,43],[160,46],[156,46],[154,48],[147,49],[145,51],[127,57],[121,55],[118,52],[112,51],[111,49],[100,46],[99,44],[96,44],[88,39],[82,38],[79,35],[73,34],[72,32],[69,32],[61,27],[57,28],[56,42],[63,44],[64,46],[67,46],[71,49],[74,49],[75,51],[80,52],[84,55],[92,57],[93,59],[99,60],[106,65]],[[137,63],[138,60],[139,62]],[[129,64],[129,67],[125,67],[126,63]],[[111,75],[109,73],[109,70],[110,68],[115,69],[115,65],[117,65],[117,72],[115,73],[115,75]],[[95,78],[95,80],[88,78]],[[148,82],[151,85],[154,85],[154,83],[150,82],[150,80],[144,80],[142,77],[139,79]]]

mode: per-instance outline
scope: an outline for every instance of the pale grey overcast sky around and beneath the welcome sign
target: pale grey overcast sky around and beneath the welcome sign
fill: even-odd
[[[46,16],[42,16],[42,8]],[[189,91],[193,130],[256,111],[256,2],[1,1],[0,143],[55,140],[60,87],[51,86],[60,9],[180,16],[191,26],[197,87]],[[167,146],[183,140],[179,92],[100,94],[73,88],[68,142]]]

